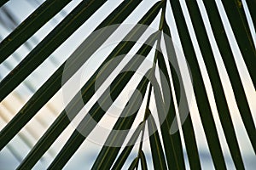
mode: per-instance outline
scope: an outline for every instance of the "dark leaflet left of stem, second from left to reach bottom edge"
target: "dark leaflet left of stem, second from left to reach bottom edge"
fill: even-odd
[[[153,34],[151,38],[149,38],[149,44],[152,44],[154,42],[157,35]],[[148,43],[146,43],[148,44]],[[147,56],[150,52],[151,47],[148,45],[143,45],[142,48],[140,48],[137,52],[137,54],[142,56]],[[141,65],[143,62],[143,59],[131,59],[131,61],[125,65],[124,71],[126,71],[124,74],[119,75],[113,82],[114,88],[111,88],[111,97],[112,99],[116,99],[119,95],[120,91],[125,87],[126,83],[129,82],[130,78],[133,76],[134,72],[131,72],[132,70],[137,70],[138,66]],[[129,72],[127,72],[129,71]],[[105,93],[108,94],[108,91],[105,91]],[[84,95],[84,94],[82,94]],[[105,94],[102,94],[102,98]],[[104,100],[99,99],[99,100]],[[104,108],[109,108],[109,104],[104,105]],[[90,114],[90,115],[89,115]],[[102,119],[102,116],[104,116],[105,111],[102,110],[102,107],[96,103],[89,111],[89,114],[87,116],[84,116],[84,119],[80,122],[80,128],[83,129],[82,131],[85,131],[86,135],[82,135],[78,131],[74,131],[72,136],[69,138],[65,146],[62,148],[61,152],[58,156],[55,157],[55,160],[50,165],[50,168],[55,167],[62,167],[64,166],[63,163],[66,163],[67,160],[73,156],[73,153],[78,150],[79,146],[84,142],[85,137],[90,133],[90,128],[93,129],[96,125],[93,124],[93,122],[90,121],[90,117],[92,117],[96,122],[99,122]],[[91,124],[92,123],[92,124]],[[90,127],[90,128],[89,128]],[[85,137],[84,137],[85,136]],[[68,150],[68,152],[67,152]],[[65,158],[65,159],[64,159]],[[66,160],[66,161],[65,161]]]

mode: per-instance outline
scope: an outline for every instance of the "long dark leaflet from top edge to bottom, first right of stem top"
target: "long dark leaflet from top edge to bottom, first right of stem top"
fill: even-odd
[[[211,107],[207,98],[207,91],[204,87],[203,79],[201,76],[200,67],[197,63],[195,49],[189,37],[189,31],[183,18],[183,13],[179,2],[170,1],[172,11],[177,24],[177,31],[183,45],[183,51],[188,61],[191,74],[193,77],[193,86],[195,91],[195,99],[198,105],[198,109],[201,116],[201,122],[203,124],[205,134],[207,137],[207,143],[210,148],[212,160],[214,166],[219,169],[226,169],[224,163],[224,156],[218,140],[217,129],[214,124]],[[195,2],[193,2],[195,3]],[[182,17],[181,17],[182,16]]]

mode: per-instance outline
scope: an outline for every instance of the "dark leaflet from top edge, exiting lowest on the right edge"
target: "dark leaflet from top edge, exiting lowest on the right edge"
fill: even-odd
[[[255,138],[255,130],[253,130],[255,126],[253,123],[252,113],[247,103],[247,97],[242,87],[241,78],[239,77],[239,72],[237,71],[236,61],[233,57],[228,38],[226,36],[226,33],[225,34],[223,33],[224,26],[218,14],[218,8],[216,4],[211,1],[206,2],[206,8],[207,8],[207,11],[211,10],[211,13],[208,12],[209,20],[215,23],[215,25],[212,26],[212,31],[217,40],[220,54],[225,56],[222,59],[224,60],[225,68],[229,74],[232,88],[236,89],[233,91],[236,97],[236,104],[238,105],[239,111],[241,111],[242,113],[241,118],[243,120],[245,127],[247,128],[247,133],[249,135],[249,138],[252,141],[253,149],[255,150],[256,138]]]

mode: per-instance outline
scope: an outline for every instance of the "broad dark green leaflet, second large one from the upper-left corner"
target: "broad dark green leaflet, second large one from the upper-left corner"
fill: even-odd
[[[90,16],[106,2],[101,0],[97,1],[98,3],[93,3],[94,1],[95,0],[83,1],[82,3],[79,3],[79,5],[73,9],[73,12],[68,14],[67,17],[62,20],[36,48],[33,48],[33,50],[26,55],[25,59],[20,61],[19,65],[15,66],[13,71],[4,77],[0,82],[0,101],[13,91],[20,82],[24,81],[25,78],[38,67],[38,65],[41,65],[62,42],[66,41],[67,38],[84,23],[84,21],[89,19]],[[110,19],[107,19],[109,22]],[[119,18],[119,20],[121,20],[121,18]],[[5,52],[3,51],[3,53]]]

